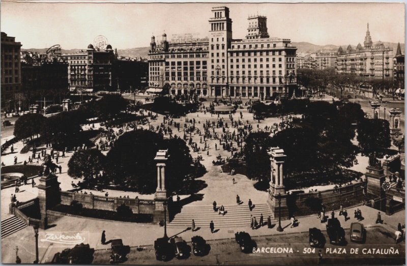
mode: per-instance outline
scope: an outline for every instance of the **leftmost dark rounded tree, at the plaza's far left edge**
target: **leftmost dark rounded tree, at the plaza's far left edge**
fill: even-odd
[[[45,117],[40,113],[26,113],[18,117],[14,124],[14,136],[18,139],[33,138],[41,132]]]

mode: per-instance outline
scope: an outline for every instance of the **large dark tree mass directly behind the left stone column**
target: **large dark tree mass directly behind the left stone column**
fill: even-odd
[[[193,160],[186,143],[179,139],[163,139],[149,130],[130,131],[114,142],[107,154],[105,168],[114,184],[140,193],[153,193],[157,188],[157,166],[154,158],[158,150],[168,149],[166,189],[177,191],[185,180],[194,178]]]

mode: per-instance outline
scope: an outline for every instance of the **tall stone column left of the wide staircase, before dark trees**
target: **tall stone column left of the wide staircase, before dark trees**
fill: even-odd
[[[167,190],[165,189],[165,166],[168,160],[168,150],[159,150],[154,160],[157,162],[157,189],[154,195],[155,210],[154,222],[164,220],[164,204],[167,203]],[[164,203],[165,202],[165,203]],[[164,204],[163,204],[164,203]],[[168,205],[166,204],[166,220],[168,221]]]

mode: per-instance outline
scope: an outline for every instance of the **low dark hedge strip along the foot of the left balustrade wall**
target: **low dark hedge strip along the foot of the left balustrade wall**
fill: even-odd
[[[89,217],[104,220],[122,221],[122,222],[133,222],[133,223],[151,223],[153,221],[152,214],[130,214],[126,216],[121,216],[117,212],[98,210],[98,209],[87,209],[87,208],[77,208],[71,205],[57,204],[51,208],[51,211]]]

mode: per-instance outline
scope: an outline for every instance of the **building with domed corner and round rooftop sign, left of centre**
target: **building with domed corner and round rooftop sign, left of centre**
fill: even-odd
[[[112,75],[113,62],[117,54],[111,45],[98,50],[92,44],[77,53],[62,54],[61,60],[68,63],[70,91],[98,92],[117,90],[117,80]]]

